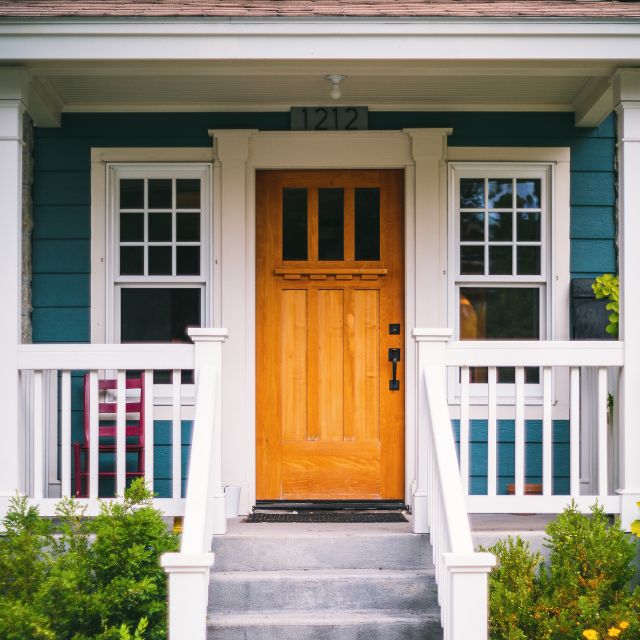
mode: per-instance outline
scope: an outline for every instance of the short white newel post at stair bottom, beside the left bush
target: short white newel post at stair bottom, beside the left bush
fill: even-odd
[[[165,553],[169,575],[169,640],[206,640],[213,553]]]

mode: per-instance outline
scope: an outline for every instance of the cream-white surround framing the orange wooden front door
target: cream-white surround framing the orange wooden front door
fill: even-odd
[[[262,132],[215,130],[214,325],[223,354],[224,480],[255,504],[255,173],[261,169],[403,169],[405,172],[405,500],[416,455],[414,327],[447,326],[447,136],[451,129]],[[244,213],[244,215],[243,215]],[[416,295],[417,292],[420,295]]]

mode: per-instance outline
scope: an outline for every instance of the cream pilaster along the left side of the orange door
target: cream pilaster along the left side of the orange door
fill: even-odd
[[[253,372],[247,367],[249,352],[254,349],[254,336],[247,330],[253,305],[247,296],[254,295],[251,286],[253,270],[248,270],[248,256],[254,256],[252,210],[253,176],[249,172],[249,144],[254,130],[209,131],[213,136],[216,158],[214,172],[214,224],[218,229],[220,264],[214,277],[219,291],[214,290],[214,322],[229,330],[230,339],[224,351],[222,392],[223,446],[226,453],[223,475],[227,484],[240,485],[240,513],[248,513],[249,489],[255,460]],[[255,264],[255,260],[251,262]],[[215,286],[215,285],[214,285]]]

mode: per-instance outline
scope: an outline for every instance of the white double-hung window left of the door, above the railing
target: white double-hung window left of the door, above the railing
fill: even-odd
[[[210,167],[109,165],[114,342],[187,342],[208,322]]]

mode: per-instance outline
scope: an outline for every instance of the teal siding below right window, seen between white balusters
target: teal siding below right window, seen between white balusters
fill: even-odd
[[[460,421],[451,421],[460,455]],[[487,494],[487,421],[469,423],[469,493]],[[498,420],[497,492],[507,494],[507,485],[515,482],[515,423]],[[552,429],[552,492],[569,494],[569,421],[554,420]],[[542,421],[525,421],[525,482],[542,482]]]

